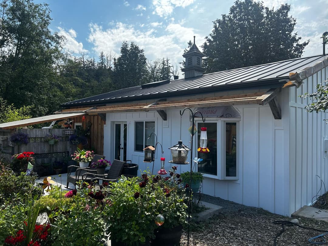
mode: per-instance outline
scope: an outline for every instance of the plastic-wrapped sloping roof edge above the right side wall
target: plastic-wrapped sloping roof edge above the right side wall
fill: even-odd
[[[304,79],[312,76],[313,74],[319,72],[321,69],[327,66],[328,66],[328,56],[325,57],[322,61],[316,62],[313,66],[306,67],[298,72],[290,72],[289,73],[290,81],[287,82],[284,85],[284,87],[294,84],[298,88],[303,84]]]

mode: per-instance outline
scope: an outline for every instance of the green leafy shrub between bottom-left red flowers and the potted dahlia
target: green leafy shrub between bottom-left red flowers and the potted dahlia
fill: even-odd
[[[52,245],[103,245],[102,239],[107,238],[104,216],[108,216],[102,210],[104,196],[101,196],[102,199],[96,199],[99,197],[91,196],[91,191],[83,187],[60,198],[64,205],[49,215],[53,219],[53,224],[58,226],[52,229]],[[69,202],[66,204],[65,200]]]

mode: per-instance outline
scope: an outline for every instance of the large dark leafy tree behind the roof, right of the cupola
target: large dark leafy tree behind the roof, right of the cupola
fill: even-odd
[[[300,57],[309,41],[293,33],[290,5],[277,10],[255,0],[237,0],[229,14],[213,22],[203,44],[206,72],[217,72]]]

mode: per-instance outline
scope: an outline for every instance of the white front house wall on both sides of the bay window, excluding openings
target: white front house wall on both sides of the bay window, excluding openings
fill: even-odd
[[[286,123],[274,120],[268,105],[242,105],[236,106],[236,108],[241,114],[239,136],[237,136],[239,179],[219,180],[205,177],[202,192],[237,203],[261,207],[273,213],[287,215],[289,212],[288,162],[284,159],[286,156],[284,150],[287,146],[285,145],[285,129],[283,127]],[[286,108],[288,109],[288,106]],[[288,112],[282,107],[283,115],[286,114],[286,111]],[[104,130],[104,154],[109,159],[113,158],[113,151],[111,151],[113,149],[113,122],[127,121],[127,159],[132,159],[132,162],[137,163],[141,170],[145,170],[147,167],[152,168],[152,163],[143,163],[144,155],[142,152],[134,151],[134,121],[155,120],[155,131],[158,141],[163,145],[163,157],[166,158],[166,167],[169,169],[171,165],[168,161],[171,160],[171,154],[168,148],[176,144],[180,138],[179,110],[169,110],[167,119],[167,121],[163,121],[157,112],[107,113]],[[181,121],[181,140],[190,147],[188,128],[191,122],[189,112],[185,112]],[[154,172],[157,172],[160,169],[159,157],[161,157],[159,145],[155,157]],[[190,160],[190,156],[188,160]],[[177,172],[181,173],[188,170],[190,170],[189,165],[178,165]]]

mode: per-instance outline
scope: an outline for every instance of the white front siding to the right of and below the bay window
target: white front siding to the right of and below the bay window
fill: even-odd
[[[288,96],[287,90],[283,93]],[[282,100],[288,105],[288,98],[279,98],[281,105]],[[205,177],[202,192],[287,215],[288,153],[285,146],[288,140],[288,119],[284,116],[289,113],[288,107],[281,107],[283,120],[275,120],[267,106],[244,105],[236,108],[241,113],[237,138],[239,179]]]

